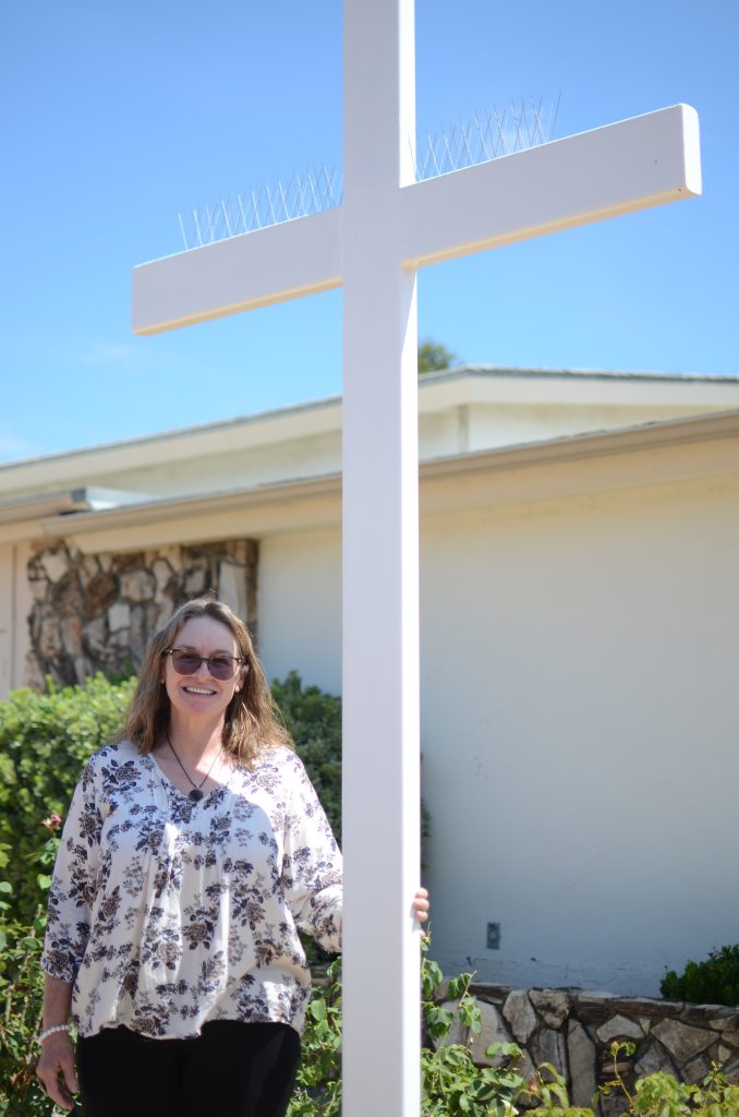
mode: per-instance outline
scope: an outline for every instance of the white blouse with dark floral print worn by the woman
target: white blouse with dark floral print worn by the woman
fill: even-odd
[[[342,859],[285,747],[193,803],[131,742],[83,772],[49,896],[41,965],[73,983],[80,1035],[125,1024],[195,1035],[209,1020],[301,1030],[297,928],[338,949]]]

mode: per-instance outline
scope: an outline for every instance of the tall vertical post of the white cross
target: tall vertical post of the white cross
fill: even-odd
[[[344,10],[344,1113],[418,1117],[418,324],[412,0]]]

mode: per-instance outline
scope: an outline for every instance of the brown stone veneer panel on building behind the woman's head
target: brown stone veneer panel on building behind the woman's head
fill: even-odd
[[[255,540],[98,555],[45,540],[28,563],[28,681],[42,688],[47,675],[75,684],[98,670],[136,670],[152,632],[209,590],[256,634],[258,561]]]

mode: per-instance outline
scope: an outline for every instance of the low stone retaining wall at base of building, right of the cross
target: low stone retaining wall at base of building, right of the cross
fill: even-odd
[[[649,997],[614,996],[580,989],[510,989],[473,984],[482,1015],[482,1031],[473,1038],[472,1058],[490,1065],[490,1043],[515,1042],[524,1050],[519,1073],[530,1078],[534,1068],[553,1063],[567,1079],[576,1106],[589,1106],[598,1086],[613,1079],[611,1044],[636,1044],[632,1059],[620,1062],[627,1083],[664,1070],[685,1082],[697,1082],[720,1063],[727,1077],[739,1082],[739,1006],[683,1004]],[[445,1006],[452,1008],[451,1003]],[[451,1042],[466,1042],[458,1027]],[[618,1091],[602,1098],[602,1113],[622,1113]]]

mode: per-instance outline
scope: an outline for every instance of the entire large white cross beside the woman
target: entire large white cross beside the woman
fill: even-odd
[[[416,183],[413,19],[413,0],[345,0],[340,208],[133,284],[140,334],[344,287],[347,1117],[420,1110],[416,269],[700,193],[683,105]]]

